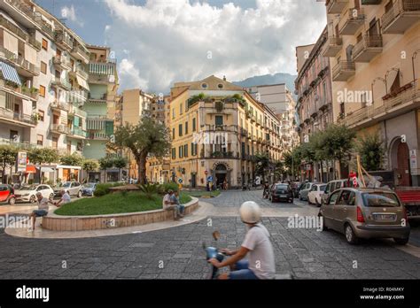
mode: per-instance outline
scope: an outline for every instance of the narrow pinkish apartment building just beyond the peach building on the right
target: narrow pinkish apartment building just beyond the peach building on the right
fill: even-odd
[[[311,135],[323,131],[333,122],[330,58],[323,57],[323,49],[328,42],[327,27],[310,51],[304,50],[306,60],[299,65],[295,89],[298,94],[296,111],[298,112],[300,142],[308,142]],[[302,58],[302,50],[297,47],[297,58]],[[298,61],[299,63],[299,61]],[[323,162],[323,170],[318,164],[304,162],[305,177],[309,180],[317,178],[327,181],[327,162]],[[310,166],[310,168],[309,168]]]

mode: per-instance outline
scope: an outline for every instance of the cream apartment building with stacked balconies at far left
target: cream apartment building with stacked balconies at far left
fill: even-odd
[[[90,57],[88,45],[41,6],[1,0],[0,142],[97,158],[88,140]],[[44,175],[57,179],[50,171]]]

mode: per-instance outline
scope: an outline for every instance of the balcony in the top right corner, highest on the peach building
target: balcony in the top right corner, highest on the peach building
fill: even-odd
[[[382,16],[383,34],[403,34],[420,19],[420,1],[394,0],[392,8]]]

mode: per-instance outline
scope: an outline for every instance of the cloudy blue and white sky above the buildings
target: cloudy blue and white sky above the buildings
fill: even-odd
[[[85,42],[111,47],[120,90],[296,74],[295,47],[326,25],[318,0],[36,0]]]

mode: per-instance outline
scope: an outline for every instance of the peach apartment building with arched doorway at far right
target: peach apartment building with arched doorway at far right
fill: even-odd
[[[333,119],[380,135],[385,169],[418,186],[420,1],[328,0],[326,11]]]

